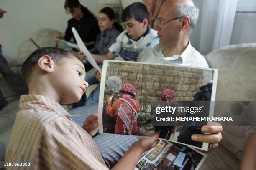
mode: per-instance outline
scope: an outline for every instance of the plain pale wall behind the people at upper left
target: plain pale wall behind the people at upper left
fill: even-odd
[[[0,19],[0,44],[10,65],[18,54],[20,44],[41,28],[64,32],[71,15],[64,10],[65,0],[0,0],[0,8],[7,11]],[[97,0],[80,0],[96,16],[105,5]]]

